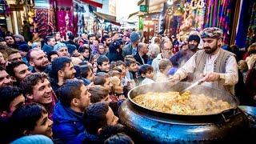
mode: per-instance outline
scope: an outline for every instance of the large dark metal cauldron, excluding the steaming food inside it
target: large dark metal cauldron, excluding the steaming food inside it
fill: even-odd
[[[180,91],[190,86],[187,82],[158,82],[137,86],[130,90],[129,100],[123,102],[119,117],[138,141],[154,143],[170,142],[236,142],[248,136],[250,124],[242,110],[238,109],[238,100],[222,90],[207,86],[197,86],[192,94],[206,94],[230,102],[232,109],[210,115],[166,114],[139,106],[132,99],[146,92]]]

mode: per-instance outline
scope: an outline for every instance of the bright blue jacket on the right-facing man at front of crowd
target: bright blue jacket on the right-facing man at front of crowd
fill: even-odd
[[[67,143],[72,142],[78,134],[85,131],[82,123],[82,113],[75,112],[58,102],[54,107],[54,139]]]

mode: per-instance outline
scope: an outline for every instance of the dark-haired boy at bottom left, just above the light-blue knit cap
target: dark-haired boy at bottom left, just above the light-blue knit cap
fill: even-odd
[[[38,103],[20,106],[10,117],[11,141],[25,135],[42,134],[52,138],[53,122],[48,118],[47,110]]]

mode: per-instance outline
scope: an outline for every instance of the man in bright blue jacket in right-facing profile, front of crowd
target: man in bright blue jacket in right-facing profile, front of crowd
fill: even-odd
[[[85,130],[82,114],[90,105],[90,93],[78,79],[67,80],[59,88],[59,102],[54,108],[54,138],[67,143]]]

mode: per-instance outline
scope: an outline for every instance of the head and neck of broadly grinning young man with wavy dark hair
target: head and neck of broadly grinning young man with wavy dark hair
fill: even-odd
[[[29,74],[23,79],[20,86],[26,97],[26,102],[36,102],[45,106],[51,119],[57,98],[50,86],[48,76],[45,73]]]

